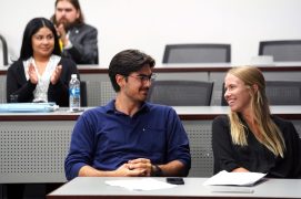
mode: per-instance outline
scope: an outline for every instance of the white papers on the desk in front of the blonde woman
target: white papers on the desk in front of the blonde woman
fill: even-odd
[[[261,172],[228,172],[225,170],[212,176],[203,182],[205,186],[214,185],[234,185],[234,186],[253,186],[267,174]]]

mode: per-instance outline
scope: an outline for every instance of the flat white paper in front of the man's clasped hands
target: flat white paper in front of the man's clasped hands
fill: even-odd
[[[147,179],[126,179],[126,180],[107,180],[109,186],[123,187],[130,190],[155,190],[155,189],[168,189],[177,187],[164,181],[155,180],[152,178]]]

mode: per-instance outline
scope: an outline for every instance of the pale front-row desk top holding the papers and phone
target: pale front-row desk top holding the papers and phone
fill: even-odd
[[[301,179],[267,179],[253,187],[233,187],[228,189],[253,190],[251,193],[213,192],[225,186],[203,186],[207,178],[184,178],[184,185],[170,189],[132,191],[121,187],[104,184],[106,180],[133,179],[133,178],[97,178],[78,177],[47,196],[47,199],[197,199],[197,198],[300,198]],[[142,178],[139,178],[142,179]],[[164,181],[165,178],[155,178]]]

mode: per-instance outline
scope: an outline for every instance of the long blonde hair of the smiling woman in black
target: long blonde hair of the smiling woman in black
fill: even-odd
[[[258,138],[258,140],[272,151],[274,156],[283,157],[285,143],[282,133],[271,119],[269,102],[265,95],[265,81],[262,72],[254,66],[240,66],[232,67],[228,71],[228,74],[240,78],[250,90],[251,114],[262,136],[260,139]],[[257,91],[253,90],[253,85],[258,86]],[[229,118],[232,142],[237,145],[247,146],[245,126],[239,118],[239,113],[230,112]]]

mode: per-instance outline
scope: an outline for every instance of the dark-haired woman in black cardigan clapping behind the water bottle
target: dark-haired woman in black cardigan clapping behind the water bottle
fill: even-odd
[[[56,102],[69,106],[68,84],[77,65],[61,57],[59,39],[52,22],[34,18],[26,27],[20,57],[8,70],[7,102]],[[79,76],[79,74],[78,74]]]

